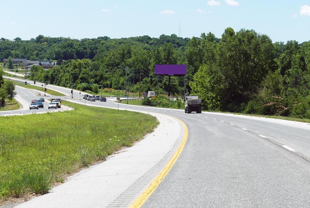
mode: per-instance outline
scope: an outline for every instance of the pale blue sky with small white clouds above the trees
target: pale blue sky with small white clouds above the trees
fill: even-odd
[[[161,34],[221,37],[254,29],[273,42],[310,40],[310,0],[3,1],[0,37],[111,38]]]

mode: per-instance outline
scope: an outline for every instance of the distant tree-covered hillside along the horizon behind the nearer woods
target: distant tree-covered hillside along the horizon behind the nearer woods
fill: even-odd
[[[21,40],[20,37],[16,37],[14,41],[2,37],[0,39],[0,60],[7,59],[9,56],[27,60],[93,59],[96,54],[104,55],[108,50],[115,49],[121,44],[136,45],[150,51],[165,43],[172,43],[175,48],[184,47],[189,40],[189,38],[179,38],[175,34],[161,35],[159,38],[145,35],[111,39],[104,36],[81,40],[39,35],[26,41]]]

